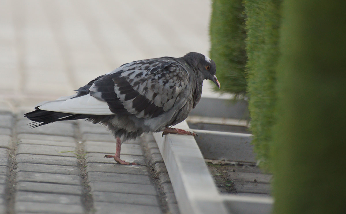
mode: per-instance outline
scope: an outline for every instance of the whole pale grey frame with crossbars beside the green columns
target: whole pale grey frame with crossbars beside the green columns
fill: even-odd
[[[198,106],[191,113],[192,117],[187,119],[190,124],[203,124],[203,121],[208,121],[207,128],[209,126],[221,130],[223,128],[220,128],[220,124],[246,125],[246,122],[239,120],[245,113],[246,102],[240,101],[231,104],[226,99],[202,97]],[[201,113],[206,117],[196,116],[201,115]],[[225,114],[227,114],[226,117],[222,116]],[[223,119],[220,119],[221,117]],[[186,121],[175,127],[190,129]],[[227,127],[225,128],[227,129]],[[220,194],[205,162],[205,159],[226,159],[243,164],[254,164],[255,158],[250,144],[251,135],[224,132],[224,130],[222,132],[192,130],[199,135],[196,137],[197,141],[192,136],[165,135],[162,137],[161,133],[154,133],[154,138],[171,179],[180,212],[182,214],[271,213],[273,199],[270,196],[263,194]]]

